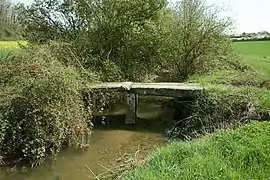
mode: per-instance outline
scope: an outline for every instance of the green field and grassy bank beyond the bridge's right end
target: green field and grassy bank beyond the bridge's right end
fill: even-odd
[[[214,72],[208,75],[192,76],[188,82],[206,87],[226,87],[235,91],[247,89],[257,96],[262,107],[270,108],[270,41],[237,42],[233,48],[239,54],[241,68]]]

